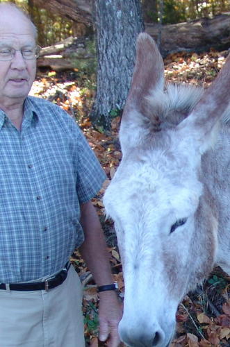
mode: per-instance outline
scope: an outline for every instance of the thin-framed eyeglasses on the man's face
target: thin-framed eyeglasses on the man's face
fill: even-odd
[[[32,60],[32,59],[38,59],[40,51],[40,46],[35,46],[33,48],[22,48],[22,49],[14,49],[13,47],[0,47],[0,60],[1,61],[8,61],[12,60],[15,57],[16,51],[20,51],[22,54],[22,57],[25,60]]]

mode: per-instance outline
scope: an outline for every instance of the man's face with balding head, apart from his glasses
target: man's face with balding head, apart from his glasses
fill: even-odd
[[[0,49],[30,49],[35,46],[31,23],[15,8],[1,8]],[[24,101],[36,73],[36,60],[25,60],[20,51],[10,61],[0,60],[0,108]]]

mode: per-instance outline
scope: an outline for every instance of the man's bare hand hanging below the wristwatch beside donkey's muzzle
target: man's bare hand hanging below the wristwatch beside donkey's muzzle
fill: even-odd
[[[118,347],[118,323],[122,319],[122,305],[115,291],[101,291],[99,294],[99,340],[106,341],[108,347]]]

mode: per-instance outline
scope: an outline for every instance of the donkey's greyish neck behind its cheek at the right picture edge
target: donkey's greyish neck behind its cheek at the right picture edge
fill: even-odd
[[[222,124],[215,147],[202,156],[202,174],[200,179],[204,187],[208,188],[210,198],[213,199],[213,208],[217,211],[217,257],[216,262],[224,269],[230,271],[230,127]]]

